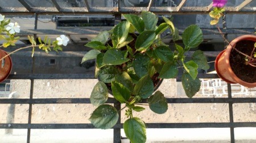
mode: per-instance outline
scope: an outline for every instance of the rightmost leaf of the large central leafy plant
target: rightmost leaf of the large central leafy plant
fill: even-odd
[[[196,62],[199,69],[208,70],[210,68],[210,66],[207,64],[207,57],[205,57],[203,51],[195,51],[192,55],[192,60]]]

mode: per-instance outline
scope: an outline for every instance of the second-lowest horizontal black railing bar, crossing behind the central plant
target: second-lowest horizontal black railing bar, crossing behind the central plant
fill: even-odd
[[[89,93],[88,93],[89,94]],[[256,103],[256,98],[166,98],[167,103]],[[90,104],[89,98],[0,99],[0,104]],[[118,103],[108,98],[106,103]],[[143,99],[141,103],[147,103]]]

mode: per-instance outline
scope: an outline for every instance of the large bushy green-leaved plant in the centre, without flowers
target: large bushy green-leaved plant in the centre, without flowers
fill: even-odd
[[[144,110],[139,106],[147,100],[155,113],[167,111],[167,100],[160,91],[154,93],[154,86],[160,79],[176,78],[182,71],[181,78],[185,93],[192,98],[200,90],[198,69],[208,69],[207,58],[202,51],[195,51],[192,58],[185,57],[189,49],[196,48],[203,41],[203,33],[196,25],[187,27],[182,36],[168,18],[156,26],[158,16],[143,11],[141,16],[123,14],[125,20],[110,31],[103,31],[85,46],[93,48],[82,58],[82,62],[96,59],[95,75],[100,79],[90,95],[90,102],[97,106],[89,120],[101,129],[112,128],[118,120],[118,112],[113,106],[105,104],[108,89],[113,97],[125,104],[123,124],[126,137],[131,142],[146,142],[146,125],[133,112]],[[163,43],[162,33],[170,30],[172,40],[183,40],[184,47],[175,43],[172,51]]]

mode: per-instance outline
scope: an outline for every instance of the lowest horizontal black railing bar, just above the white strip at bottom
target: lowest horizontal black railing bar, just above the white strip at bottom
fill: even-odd
[[[256,127],[256,122],[237,123],[146,123],[147,128],[240,128]],[[0,129],[96,129],[92,124],[0,124]],[[113,129],[122,129],[123,124]]]

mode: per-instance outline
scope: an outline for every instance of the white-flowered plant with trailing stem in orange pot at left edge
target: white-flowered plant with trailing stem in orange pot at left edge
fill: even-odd
[[[18,23],[10,22],[10,19],[6,19],[5,16],[0,14],[0,40],[3,41],[3,44],[0,45],[0,48],[7,48],[9,46],[14,46],[16,41],[19,40],[19,36],[16,36],[17,33],[20,32],[20,26]],[[57,37],[55,41],[51,43],[51,39],[47,36],[42,40],[38,37],[39,44],[36,43],[33,36],[27,36],[31,45],[27,47],[21,47],[16,49],[13,52],[7,53],[0,49],[0,82],[4,81],[11,72],[12,61],[10,54],[13,54],[22,49],[32,48],[32,56],[34,55],[35,48],[42,49],[45,52],[51,51],[52,49],[56,52],[62,51],[61,45],[66,46],[68,44],[68,37],[64,35],[60,35]]]

